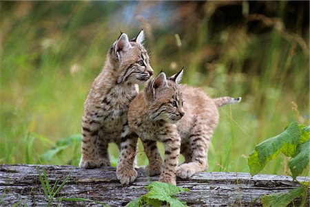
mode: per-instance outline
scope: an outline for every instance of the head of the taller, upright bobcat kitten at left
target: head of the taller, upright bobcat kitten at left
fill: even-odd
[[[153,74],[149,56],[142,45],[143,30],[132,41],[123,33],[110,48],[110,63],[120,69],[117,83],[136,83],[142,85]]]

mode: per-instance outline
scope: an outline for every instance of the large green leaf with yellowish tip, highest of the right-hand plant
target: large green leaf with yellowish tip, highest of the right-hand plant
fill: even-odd
[[[300,135],[301,132],[298,123],[293,122],[279,135],[256,145],[255,150],[248,158],[251,175],[253,176],[259,173],[267,162],[275,158],[280,152],[292,157],[300,142]]]

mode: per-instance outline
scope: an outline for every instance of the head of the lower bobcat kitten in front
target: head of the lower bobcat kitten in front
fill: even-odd
[[[154,120],[175,124],[184,116],[183,95],[178,86],[182,74],[183,70],[167,79],[161,72],[145,89],[149,116]]]

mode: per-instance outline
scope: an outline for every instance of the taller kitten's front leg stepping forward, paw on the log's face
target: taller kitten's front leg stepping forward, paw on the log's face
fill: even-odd
[[[128,185],[138,176],[134,169],[134,157],[136,156],[136,144],[138,135],[135,133],[122,138],[121,151],[116,166],[116,177],[121,184]]]

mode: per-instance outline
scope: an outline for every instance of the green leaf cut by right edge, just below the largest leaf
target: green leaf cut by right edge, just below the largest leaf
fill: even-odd
[[[289,169],[291,170],[292,177],[295,179],[298,175],[307,168],[309,164],[310,141],[298,144],[295,155],[289,160]]]

